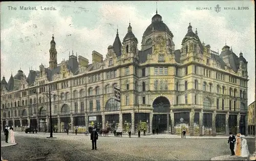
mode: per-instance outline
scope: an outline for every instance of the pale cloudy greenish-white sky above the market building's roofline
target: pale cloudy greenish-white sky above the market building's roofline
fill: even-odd
[[[156,5],[157,4],[157,5]],[[221,7],[220,12],[215,7]],[[9,7],[8,7],[9,6]],[[37,10],[20,10],[20,7]],[[248,61],[248,105],[255,100],[255,29],[253,1],[115,1],[115,2],[1,2],[1,80],[8,81],[21,68],[49,66],[49,49],[54,34],[58,63],[69,52],[91,62],[92,51],[105,57],[118,28],[122,41],[129,22],[138,38],[140,49],[143,32],[156,14],[174,34],[175,50],[187,33],[189,22],[197,28],[200,40],[211,50],[221,51],[225,42]],[[16,7],[16,10],[14,8]],[[55,10],[41,10],[49,7]],[[197,8],[211,10],[198,10]],[[225,10],[243,7],[244,10]]]

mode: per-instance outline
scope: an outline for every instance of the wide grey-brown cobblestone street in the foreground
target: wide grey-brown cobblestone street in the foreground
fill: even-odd
[[[210,160],[230,153],[227,139],[155,139],[99,137],[91,150],[90,136],[16,133],[15,146],[2,148],[8,160]],[[2,141],[4,136],[2,135]],[[255,138],[248,138],[250,153]],[[253,148],[254,147],[254,148]]]

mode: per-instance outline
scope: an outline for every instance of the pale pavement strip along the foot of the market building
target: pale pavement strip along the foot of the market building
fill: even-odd
[[[25,132],[19,132],[16,131],[15,133],[25,133]],[[45,134],[45,135],[50,135],[50,133],[45,133],[45,132],[37,132],[38,134]],[[33,134],[33,133],[30,133]],[[36,134],[36,133],[34,133]],[[68,135],[67,133],[53,133],[53,135]],[[69,135],[75,135],[74,133],[69,133]],[[77,135],[83,135],[83,133],[78,133]],[[89,134],[90,135],[90,134]],[[100,136],[100,135],[99,135]],[[108,134],[107,136],[109,137],[117,137],[114,136],[114,134]],[[102,134],[103,137],[103,134]],[[120,136],[121,137],[121,136]],[[122,137],[129,137],[127,134],[123,134]],[[131,137],[138,137],[138,135],[131,135]],[[140,135],[141,138],[152,138],[152,139],[181,139],[181,135],[177,134],[146,134],[145,136],[142,134]],[[203,135],[203,136],[190,136],[186,135],[186,139],[228,139],[229,135],[216,135],[216,136],[211,136],[211,135]],[[255,138],[255,136],[246,136],[245,138]]]

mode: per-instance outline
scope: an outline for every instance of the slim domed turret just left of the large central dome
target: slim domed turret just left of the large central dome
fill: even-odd
[[[135,37],[132,31],[131,23],[129,23],[129,27],[127,28],[127,34],[123,38],[123,48],[122,48],[122,53],[123,54],[128,54],[128,53],[133,53],[136,54],[138,52],[137,44],[138,44],[138,39]]]

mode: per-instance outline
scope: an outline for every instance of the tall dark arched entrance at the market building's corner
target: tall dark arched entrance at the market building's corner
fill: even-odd
[[[166,97],[158,97],[153,101],[153,129],[166,133],[170,126],[170,102]]]

